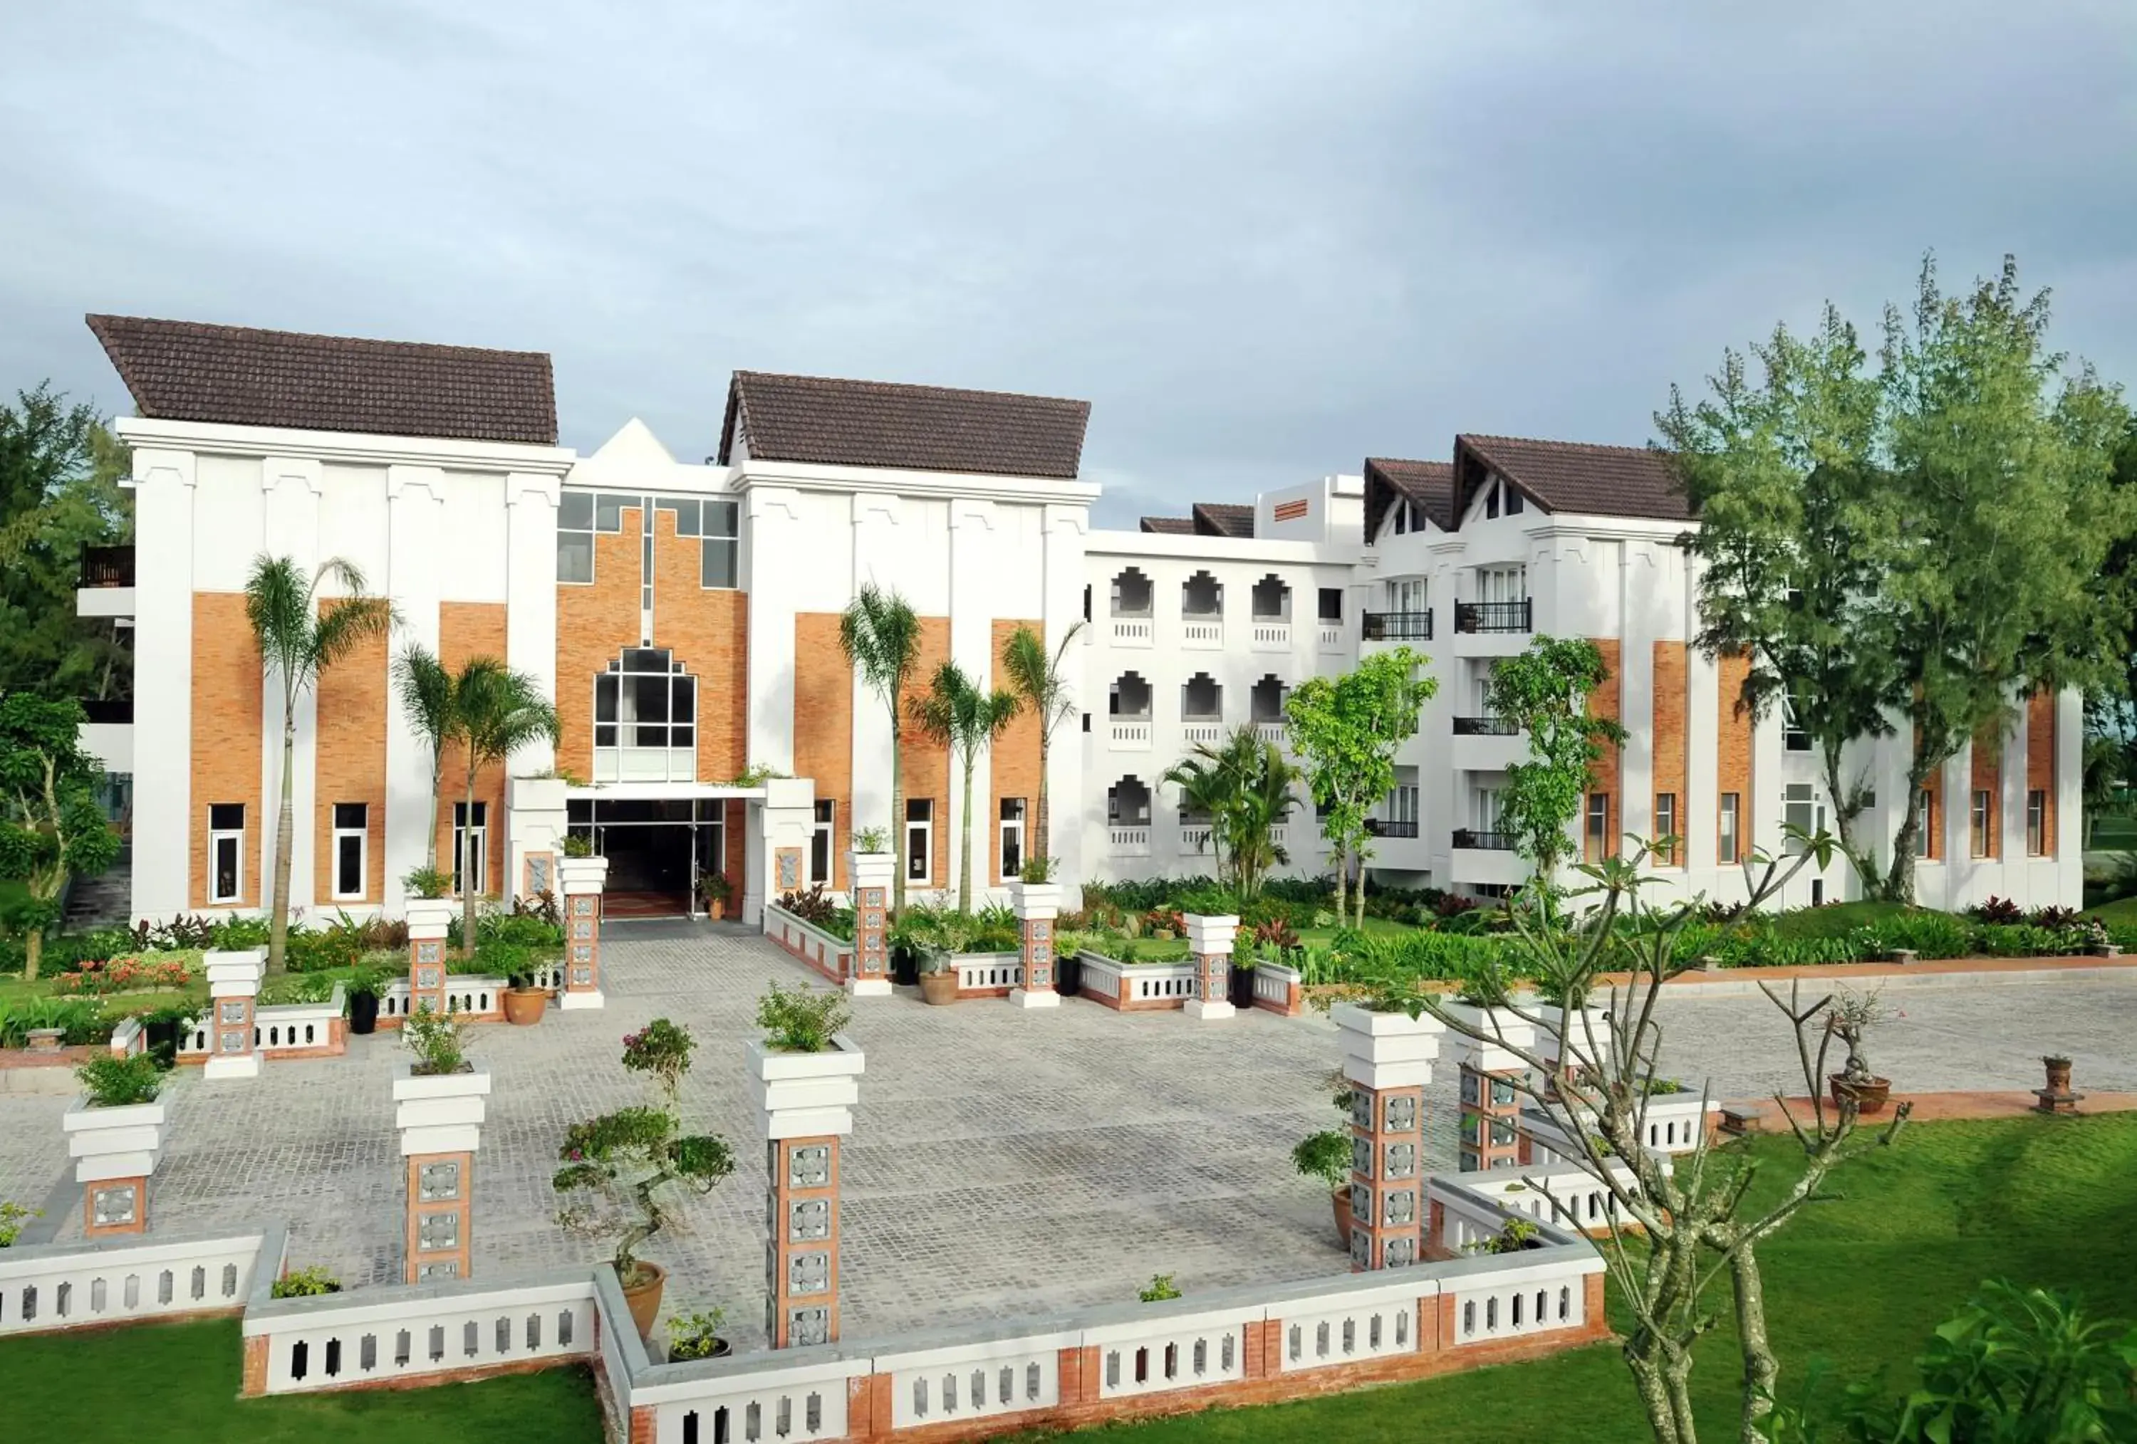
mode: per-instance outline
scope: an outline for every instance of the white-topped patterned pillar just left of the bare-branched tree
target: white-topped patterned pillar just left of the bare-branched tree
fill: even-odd
[[[1442,1027],[1348,1002],[1329,1019],[1351,1083],[1351,1271],[1402,1269],[1423,1256],[1425,1083]]]

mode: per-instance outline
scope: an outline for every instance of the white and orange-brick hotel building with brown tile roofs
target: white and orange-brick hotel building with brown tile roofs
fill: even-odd
[[[1660,872],[1742,895],[1735,861],[1816,825],[1823,782],[1784,718],[1735,707],[1742,664],[1688,645],[1690,521],[1650,453],[1457,436],[1449,461],[1092,530],[1079,481],[1088,406],[938,387],[737,372],[722,442],[677,461],[637,421],[592,455],[556,444],[549,359],[400,342],[92,316],[137,417],[137,547],[85,562],[81,609],[135,628],[132,720],[85,737],[132,784],[132,912],[259,910],[280,790],[276,688],[241,587],[259,553],[340,555],[400,624],[299,709],[293,901],[397,912],[425,835],[474,827],[489,891],[545,880],[558,833],[592,833],[639,912],[684,910],[718,869],[754,919],[782,859],[844,886],[855,827],[889,827],[915,889],[955,884],[962,778],[908,735],[908,807],[889,816],[889,722],[836,645],[863,583],[923,619],[923,669],[998,679],[1002,639],[1077,619],[1081,731],[1056,735],[1051,852],[1066,880],[1207,872],[1201,829],[1160,775],[1252,722],[1280,737],[1284,692],[1406,643],[1438,696],[1400,756],[1372,869],[1496,891],[1496,788],[1524,739],[1485,716],[1494,658],[1539,632],[1590,637],[1596,705],[1628,741],[1596,767],[1588,852],[1675,833]],[[551,688],[556,756],[483,780],[474,816],[430,797],[427,752],[391,703],[391,652],[494,654]],[[923,677],[925,681],[925,677]],[[1868,835],[1889,837],[1904,739],[1863,743]],[[556,767],[564,784],[536,782]],[[791,773],[748,786],[742,773]],[[1019,720],[974,778],[974,876],[1032,846],[1036,733]],[[451,775],[451,767],[449,767]],[[2075,904],[2079,701],[2032,699],[1943,771],[1919,867],[1925,904],[1992,893]],[[1291,872],[1329,865],[1310,805]],[[1791,901],[1853,895],[1838,859]]]

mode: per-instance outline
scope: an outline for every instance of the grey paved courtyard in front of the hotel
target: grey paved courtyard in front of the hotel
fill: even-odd
[[[652,1017],[699,1038],[686,1126],[724,1134],[735,1175],[688,1198],[645,1250],[673,1271],[669,1309],[720,1305],[737,1346],[763,1344],[765,1171],[744,1045],[769,980],[812,978],[739,927],[611,925],[609,1006],[549,1010],[539,1027],[485,1025],[472,1055],[496,1079],[477,1160],[477,1277],[603,1254],[553,1226],[549,1173],[564,1128],[645,1098],[618,1062]],[[2039,1055],[2075,1057],[2079,1087],[2137,1089],[2137,978],[1906,989],[1876,1036],[1902,1089],[2011,1089]],[[1716,1096],[1787,1083],[1793,1045],[1763,998],[1673,995],[1667,1062]],[[846,1149],[844,1333],[885,1335],[977,1316],[1120,1303],[1152,1273],[1188,1292],[1340,1273],[1327,1196],[1291,1145],[1336,1121],[1325,1081],[1336,1032],[1321,1017],[1252,1013],[1192,1023],[1066,1000],[927,1008],[863,1000],[868,1051]],[[250,1083],[182,1070],[167,1092],[169,1151],[154,1181],[158,1233],[291,1228],[293,1262],[348,1282],[400,1275],[393,1034],[346,1057],[269,1064]],[[1791,1089],[1793,1092],[1793,1089]],[[64,1098],[0,1096],[0,1198],[43,1200],[66,1173]],[[1428,1096],[1432,1166],[1451,1168],[1453,1068]],[[58,1192],[66,1198],[66,1192]],[[58,1237],[81,1233],[79,1192]]]

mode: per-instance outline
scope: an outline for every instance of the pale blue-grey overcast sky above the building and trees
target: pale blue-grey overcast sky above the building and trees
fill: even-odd
[[[1776,15],[1776,11],[1787,11]],[[0,0],[0,389],[83,312],[1075,395],[1101,519],[1669,382],[1921,252],[2137,382],[2137,4]]]

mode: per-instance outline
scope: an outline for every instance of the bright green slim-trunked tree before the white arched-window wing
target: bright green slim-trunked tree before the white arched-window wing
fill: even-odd
[[[1357,925],[1366,925],[1366,812],[1395,788],[1395,750],[1417,735],[1417,713],[1438,690],[1419,677],[1423,656],[1393,647],[1342,677],[1308,677],[1284,699],[1291,750],[1306,786],[1325,807],[1321,833],[1336,848],[1336,916],[1348,906],[1351,861],[1359,863]]]

